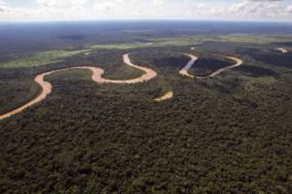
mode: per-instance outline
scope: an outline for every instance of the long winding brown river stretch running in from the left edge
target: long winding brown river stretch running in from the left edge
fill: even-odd
[[[26,103],[25,105],[20,106],[19,108],[16,108],[15,110],[11,110],[10,112],[6,112],[4,115],[0,115],[0,119],[5,119],[7,117],[11,117],[12,115],[16,115],[20,112],[22,112],[23,110],[25,110],[26,108],[29,108],[32,105],[35,105],[36,103],[39,103],[40,101],[44,100],[44,98],[47,98],[47,96],[49,95],[49,93],[51,93],[52,91],[52,86],[51,83],[44,81],[44,78],[47,75],[51,75],[53,73],[56,72],[63,72],[66,70],[90,70],[92,72],[92,80],[97,82],[97,84],[107,84],[107,83],[112,83],[112,84],[136,84],[136,83],[140,83],[140,82],[147,82],[150,79],[153,79],[154,77],[157,76],[157,72],[155,72],[154,70],[148,68],[148,67],[141,67],[138,65],[134,65],[133,63],[131,63],[130,58],[129,58],[129,53],[125,54],[123,56],[123,61],[124,63],[126,63],[127,65],[134,67],[138,70],[142,70],[145,72],[144,75],[142,75],[141,77],[138,77],[136,79],[129,79],[129,80],[111,80],[111,79],[104,79],[102,78],[102,75],[104,74],[104,70],[102,70],[99,67],[69,67],[69,68],[65,68],[65,69],[61,69],[61,70],[54,70],[51,72],[44,72],[42,74],[39,74],[35,77],[35,82],[37,84],[39,84],[39,86],[42,87],[42,91],[41,93],[39,93],[39,95],[32,99],[32,101],[29,101],[28,103]]]

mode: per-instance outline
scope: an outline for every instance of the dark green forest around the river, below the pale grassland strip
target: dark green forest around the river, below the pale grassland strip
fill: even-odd
[[[128,48],[0,71],[2,112],[35,95],[39,72],[87,64],[111,79],[137,77],[122,62],[130,51],[133,63],[158,72],[134,85],[96,84],[87,70],[47,77],[48,98],[0,121],[0,193],[291,193],[291,53],[220,41],[195,51]],[[185,52],[202,56],[202,74],[230,65],[214,53],[245,64],[188,79],[178,74]],[[153,101],[169,90],[173,99]]]

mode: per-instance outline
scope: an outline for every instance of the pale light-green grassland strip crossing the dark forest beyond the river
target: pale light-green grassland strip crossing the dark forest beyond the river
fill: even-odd
[[[162,46],[193,46],[202,44],[208,41],[217,42],[230,42],[230,43],[245,43],[245,44],[267,44],[279,42],[292,41],[291,35],[281,34],[228,34],[224,36],[214,35],[197,35],[197,36],[181,36],[181,37],[168,37],[168,38],[147,38],[148,42],[134,42],[134,43],[120,43],[120,44],[93,44],[85,46],[83,50],[52,50],[35,53],[33,56],[26,56],[10,60],[8,62],[0,63],[1,68],[13,68],[13,67],[39,67],[42,65],[49,65],[53,63],[61,63],[64,58],[75,56],[83,53],[85,56],[89,56],[92,51],[100,49],[137,49],[137,48],[155,48]],[[269,46],[271,47],[271,46]]]

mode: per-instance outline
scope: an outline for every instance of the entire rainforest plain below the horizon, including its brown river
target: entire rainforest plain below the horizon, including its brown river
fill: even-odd
[[[291,32],[0,22],[0,193],[292,193]]]

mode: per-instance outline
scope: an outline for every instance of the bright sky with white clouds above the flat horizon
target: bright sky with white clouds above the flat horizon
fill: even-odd
[[[292,22],[292,0],[0,0],[0,20],[251,20]]]

